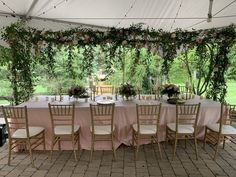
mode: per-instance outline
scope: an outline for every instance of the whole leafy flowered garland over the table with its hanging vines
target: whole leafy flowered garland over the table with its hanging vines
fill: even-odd
[[[209,72],[204,76],[205,80],[198,90],[194,92],[207,93],[208,98],[223,101],[226,94],[225,72],[229,67],[228,52],[235,44],[235,26],[230,25],[219,29],[206,29],[198,31],[185,31],[178,29],[174,32],[163,30],[143,29],[142,26],[131,26],[130,28],[110,28],[106,31],[92,30],[89,28],[76,28],[66,31],[45,31],[30,28],[20,21],[7,26],[2,31],[2,39],[10,46],[11,57],[4,62],[10,71],[9,80],[13,89],[15,104],[26,101],[33,93],[35,73],[33,68],[37,63],[48,67],[48,74],[53,77],[55,61],[55,48],[68,47],[68,73],[74,76],[71,62],[74,57],[71,49],[74,47],[84,48],[84,60],[81,64],[81,77],[92,74],[92,68],[96,64],[93,57],[93,46],[101,46],[106,50],[105,64],[109,73],[113,72],[114,62],[124,67],[121,54],[126,48],[136,48],[136,62],[140,61],[139,50],[147,48],[150,53],[159,54],[162,59],[162,74],[168,77],[173,59],[178,51],[187,53],[196,47],[198,62],[202,65],[206,55],[210,56]],[[209,52],[210,51],[210,52]],[[117,57],[118,56],[118,57]],[[187,61],[187,54],[185,60]],[[148,62],[145,61],[145,62]],[[187,63],[188,64],[188,63]],[[148,65],[148,63],[147,63]],[[201,65],[199,73],[201,74]],[[131,66],[135,69],[135,65]],[[191,71],[189,76],[191,79]],[[205,82],[207,81],[207,82]],[[193,85],[192,80],[190,80]]]

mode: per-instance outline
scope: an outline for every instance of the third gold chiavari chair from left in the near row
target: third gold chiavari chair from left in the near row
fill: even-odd
[[[114,147],[114,109],[115,104],[90,104],[91,112],[91,154],[90,161],[93,157],[95,141],[111,141],[114,159],[116,152]]]

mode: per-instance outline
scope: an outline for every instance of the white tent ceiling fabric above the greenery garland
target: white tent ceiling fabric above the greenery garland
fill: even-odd
[[[207,22],[209,0],[0,0],[0,27],[17,21],[17,17],[4,15],[15,13],[32,17],[29,26],[52,30],[78,24],[118,28],[143,24],[165,31],[206,29],[235,23],[235,1],[213,0],[213,18]]]

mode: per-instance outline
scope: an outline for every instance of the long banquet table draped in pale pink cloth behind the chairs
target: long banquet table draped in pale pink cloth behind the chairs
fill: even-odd
[[[29,100],[19,106],[27,106],[28,108],[28,118],[29,125],[31,126],[42,126],[46,131],[46,148],[50,149],[52,129],[51,120],[48,109],[48,100],[51,98],[47,96],[39,96],[37,99]],[[100,97],[99,99],[102,99]],[[136,103],[147,103],[154,104],[162,102],[162,112],[160,117],[160,141],[165,140],[165,126],[167,123],[175,122],[176,109],[175,105],[168,104],[165,98],[161,100],[133,100],[133,101],[115,101],[115,113],[114,113],[114,123],[115,123],[115,146],[126,144],[130,145],[132,140],[132,129],[131,125],[136,122]],[[203,137],[203,127],[206,124],[215,123],[220,116],[220,103],[214,102],[212,100],[200,99],[195,96],[194,99],[187,100],[186,103],[201,103],[198,127],[199,134],[198,137]],[[80,145],[82,149],[90,149],[91,136],[89,127],[91,125],[90,109],[89,103],[94,103],[93,101],[85,102],[84,100],[79,100],[75,103],[75,123],[81,126],[80,134]],[[72,104],[72,101],[68,99],[68,96],[64,96],[64,101],[54,101],[52,104]],[[143,142],[148,143],[148,142]],[[62,149],[68,150],[72,148],[70,142],[62,142]],[[57,148],[57,146],[55,146]],[[97,150],[109,150],[111,149],[110,142],[96,142],[95,149]]]

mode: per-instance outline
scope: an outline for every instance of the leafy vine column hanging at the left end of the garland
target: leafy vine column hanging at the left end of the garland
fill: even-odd
[[[15,23],[6,27],[2,37],[11,47],[12,58],[9,61],[11,76],[8,79],[11,82],[14,103],[19,104],[28,100],[34,91],[32,73],[34,61],[30,51],[32,44],[25,42],[30,41],[31,33],[24,28],[23,24]]]

